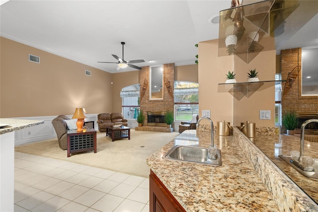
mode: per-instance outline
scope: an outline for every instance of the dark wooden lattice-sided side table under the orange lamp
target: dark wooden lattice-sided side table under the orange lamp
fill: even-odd
[[[96,153],[96,131],[83,129],[82,132],[68,130],[68,157],[71,153],[94,150]]]

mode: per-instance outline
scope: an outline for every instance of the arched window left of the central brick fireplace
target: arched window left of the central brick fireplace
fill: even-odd
[[[122,98],[122,113],[125,119],[136,119],[140,107],[140,85],[125,87],[120,92]]]

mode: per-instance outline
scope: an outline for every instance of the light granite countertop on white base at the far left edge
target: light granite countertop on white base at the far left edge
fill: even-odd
[[[13,118],[0,118],[0,124],[8,125],[0,128],[0,134],[16,131],[30,126],[35,126],[44,123],[40,120],[25,120]]]

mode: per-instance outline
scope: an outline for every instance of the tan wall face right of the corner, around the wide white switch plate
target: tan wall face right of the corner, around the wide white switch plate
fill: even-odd
[[[259,81],[275,80],[276,51],[262,51],[250,63],[245,63],[239,57],[234,57],[237,82],[246,82],[248,70],[256,69]],[[255,93],[249,92],[249,97],[234,101],[234,123],[250,121],[256,127],[275,126],[275,84],[264,83]],[[259,119],[259,110],[270,110],[270,119]]]

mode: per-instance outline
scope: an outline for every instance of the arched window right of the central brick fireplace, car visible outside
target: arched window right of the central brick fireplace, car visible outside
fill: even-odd
[[[174,81],[175,120],[191,120],[199,113],[199,84],[187,81]]]

